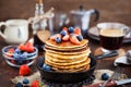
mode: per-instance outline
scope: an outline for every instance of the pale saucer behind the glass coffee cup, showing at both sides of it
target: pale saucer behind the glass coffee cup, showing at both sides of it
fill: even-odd
[[[131,32],[131,28],[130,28],[130,32]],[[98,29],[97,29],[96,26],[93,26],[93,27],[88,28],[88,32],[87,32],[87,33],[88,33],[88,37],[90,37],[90,38],[99,41]],[[127,42],[131,42],[131,37],[124,37],[124,38],[123,38],[123,44],[127,44]]]

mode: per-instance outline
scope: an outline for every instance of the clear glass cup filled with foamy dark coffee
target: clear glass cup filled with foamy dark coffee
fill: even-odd
[[[118,50],[127,32],[127,26],[121,23],[99,23],[97,24],[100,45],[103,51]]]

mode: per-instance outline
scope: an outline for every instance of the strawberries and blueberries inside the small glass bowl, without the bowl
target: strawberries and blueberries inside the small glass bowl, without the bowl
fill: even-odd
[[[19,45],[17,47],[11,47],[5,49],[5,57],[10,58],[11,63],[13,64],[23,64],[23,62],[27,63],[26,59],[33,57],[35,51],[35,47],[31,42],[26,42],[25,45]],[[28,61],[31,62],[31,61]]]

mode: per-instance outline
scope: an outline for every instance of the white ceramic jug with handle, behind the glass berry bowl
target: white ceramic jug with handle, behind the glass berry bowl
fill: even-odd
[[[8,20],[0,22],[0,27],[5,25],[3,33],[0,28],[0,36],[7,44],[22,44],[28,39],[28,21],[27,20]]]

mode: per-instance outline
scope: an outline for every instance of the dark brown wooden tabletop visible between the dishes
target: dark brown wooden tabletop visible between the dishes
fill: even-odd
[[[90,40],[90,47],[93,53],[95,53],[96,49],[99,48],[99,42],[88,39]],[[7,44],[0,39],[0,49],[2,49]],[[122,46],[124,51],[131,49],[130,44],[126,44]],[[43,55],[43,53],[39,53],[39,57]],[[114,66],[114,60],[115,58],[104,59],[104,60],[97,60],[97,67],[96,69],[108,69],[108,70],[115,70]],[[33,72],[37,71],[35,63],[31,66],[33,69]],[[124,74],[127,74],[129,77],[131,77],[131,66],[124,66]],[[13,87],[13,84],[11,82],[11,78],[19,75],[19,69],[9,66],[3,57],[2,53],[0,54],[0,87]],[[131,87],[131,85],[126,85],[126,87]]]

